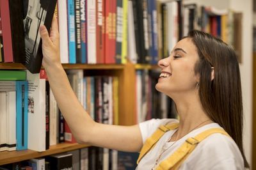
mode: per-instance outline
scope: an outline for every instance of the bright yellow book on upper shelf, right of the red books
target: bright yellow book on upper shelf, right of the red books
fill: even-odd
[[[121,63],[127,63],[127,9],[128,9],[128,0],[123,0],[123,39],[122,39],[122,55]]]

